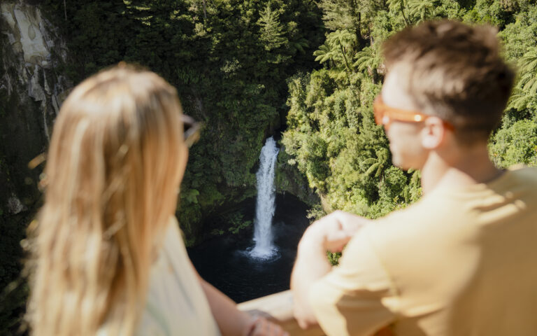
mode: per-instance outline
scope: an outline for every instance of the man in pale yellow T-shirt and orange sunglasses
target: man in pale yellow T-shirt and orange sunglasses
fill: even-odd
[[[426,22],[384,54],[375,119],[394,165],[421,169],[424,195],[377,221],[336,212],[310,225],[291,281],[299,324],[537,335],[537,169],[499,170],[487,153],[513,84],[494,29]],[[331,267],[326,251],[346,243]]]

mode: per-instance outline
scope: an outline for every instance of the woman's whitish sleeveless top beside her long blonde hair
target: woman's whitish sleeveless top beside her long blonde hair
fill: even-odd
[[[175,218],[152,265],[147,302],[135,335],[220,336]]]

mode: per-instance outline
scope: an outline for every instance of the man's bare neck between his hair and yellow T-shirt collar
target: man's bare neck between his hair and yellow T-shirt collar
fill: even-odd
[[[427,195],[436,188],[485,183],[502,173],[490,161],[486,143],[431,151],[422,167],[422,190]]]

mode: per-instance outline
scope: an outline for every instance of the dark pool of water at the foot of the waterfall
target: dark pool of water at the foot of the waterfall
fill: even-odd
[[[245,202],[251,207],[252,202]],[[255,202],[254,202],[255,207]],[[243,302],[289,289],[296,245],[308,227],[308,206],[293,195],[277,195],[273,235],[278,255],[256,260],[248,255],[253,246],[253,228],[241,235],[215,237],[188,248],[199,274],[236,302]],[[255,209],[244,209],[245,220],[253,221]]]

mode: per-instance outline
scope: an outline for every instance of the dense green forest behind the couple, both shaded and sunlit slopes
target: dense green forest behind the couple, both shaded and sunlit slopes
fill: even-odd
[[[255,195],[259,151],[280,131],[278,190],[308,202],[313,218],[334,209],[378,218],[419,199],[420,172],[392,166],[371,105],[385,75],[382,41],[423,20],[499,29],[504,55],[520,72],[490,154],[499,167],[537,165],[534,1],[31,2],[64,36],[69,62],[56,71],[73,84],[120,61],[140,64],[177,87],[185,113],[203,122],[178,204],[187,244],[245,226],[240,213],[225,209]],[[0,87],[2,106],[8,99]],[[0,153],[0,169],[8,164]],[[219,218],[219,230],[206,224],[211,218]],[[0,269],[0,334],[13,332],[24,311],[24,285],[12,282],[24,228],[15,231],[10,246],[0,246],[13,257]]]

